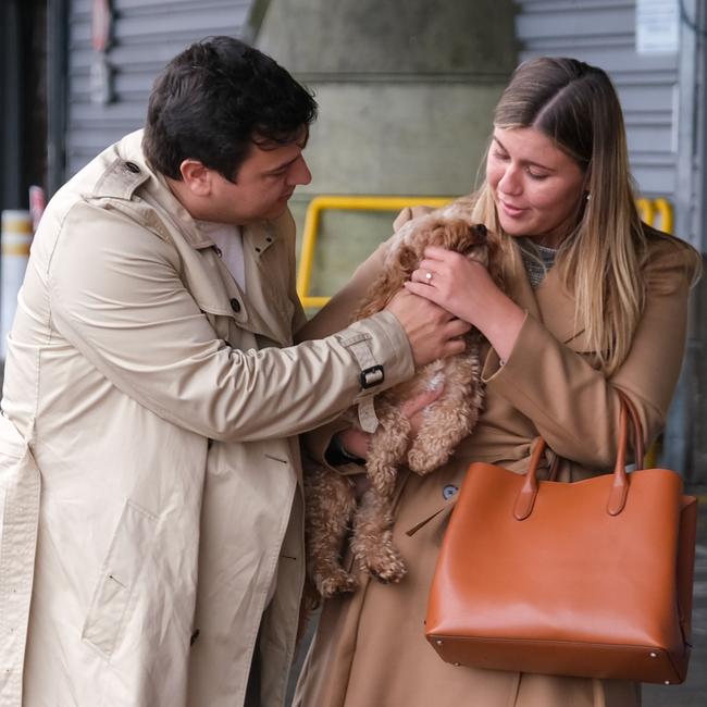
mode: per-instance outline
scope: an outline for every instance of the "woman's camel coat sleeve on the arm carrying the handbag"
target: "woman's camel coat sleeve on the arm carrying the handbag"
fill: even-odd
[[[530,418],[561,457],[592,468],[613,466],[619,389],[635,405],[646,444],[662,429],[680,374],[692,268],[685,249],[659,244],[647,263],[647,298],[629,354],[611,377],[591,356],[558,342],[532,315],[508,360],[491,351],[484,380]]]

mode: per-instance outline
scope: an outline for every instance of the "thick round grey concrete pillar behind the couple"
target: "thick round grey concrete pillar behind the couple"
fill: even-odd
[[[318,194],[469,193],[517,64],[510,0],[271,0],[256,45],[314,90]],[[390,233],[393,213],[325,213],[312,294],[332,294]]]

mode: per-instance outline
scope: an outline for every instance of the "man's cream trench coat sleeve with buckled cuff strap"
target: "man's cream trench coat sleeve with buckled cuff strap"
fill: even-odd
[[[46,273],[55,330],[126,395],[198,434],[298,434],[412,375],[408,339],[389,312],[299,346],[241,351],[199,310],[170,241],[79,203],[57,244]],[[356,358],[362,346],[385,368],[385,381],[368,390]]]

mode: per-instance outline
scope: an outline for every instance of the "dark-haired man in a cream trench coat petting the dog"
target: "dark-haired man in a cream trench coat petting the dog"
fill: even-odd
[[[292,346],[287,200],[315,109],[255,49],[197,44],[158,78],[144,135],[51,200],[0,418],[3,707],[283,704],[296,435],[370,413],[467,330],[401,296]]]

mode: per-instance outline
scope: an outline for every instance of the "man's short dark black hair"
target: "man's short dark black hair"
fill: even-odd
[[[211,37],[158,76],[142,149],[173,179],[193,159],[235,181],[253,142],[293,142],[315,117],[312,96],[273,59],[238,39]]]

